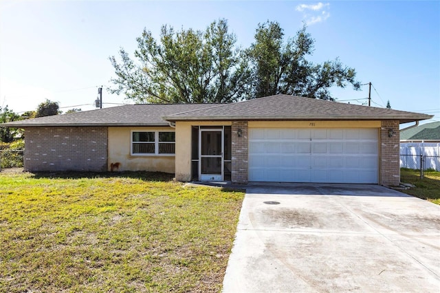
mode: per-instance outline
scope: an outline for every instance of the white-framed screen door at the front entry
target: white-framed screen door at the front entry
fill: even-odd
[[[200,129],[199,142],[199,180],[223,181],[223,129]]]

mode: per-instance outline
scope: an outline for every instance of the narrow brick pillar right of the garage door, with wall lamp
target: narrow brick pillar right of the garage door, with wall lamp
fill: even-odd
[[[388,137],[388,129],[393,136]],[[382,121],[380,129],[380,184],[396,186],[400,184],[399,121]]]

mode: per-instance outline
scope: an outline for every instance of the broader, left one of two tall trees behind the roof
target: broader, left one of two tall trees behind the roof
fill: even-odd
[[[136,102],[232,102],[248,90],[250,72],[236,37],[225,19],[211,23],[205,32],[175,32],[162,26],[156,41],[144,30],[137,38],[135,63],[120,49],[122,63],[109,59],[116,78],[112,94],[125,94]]]

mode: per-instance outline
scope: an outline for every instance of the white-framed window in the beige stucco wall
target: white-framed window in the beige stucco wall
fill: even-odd
[[[132,131],[131,155],[174,155],[175,132]]]

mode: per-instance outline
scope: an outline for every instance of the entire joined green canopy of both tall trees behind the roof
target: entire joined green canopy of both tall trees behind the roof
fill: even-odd
[[[144,29],[133,61],[120,49],[111,56],[116,77],[111,93],[135,102],[234,102],[274,94],[333,100],[329,88],[353,85],[355,69],[339,58],[314,64],[307,60],[314,39],[304,26],[285,40],[279,23],[259,24],[250,47],[236,45],[225,19],[206,30],[175,31],[163,25],[159,40]]]

